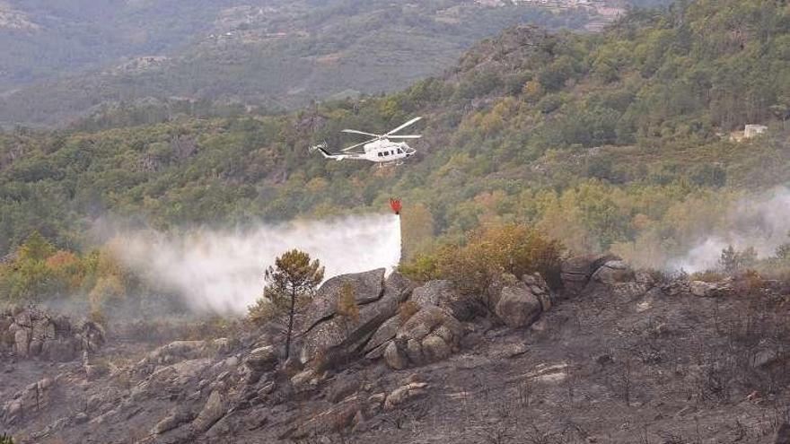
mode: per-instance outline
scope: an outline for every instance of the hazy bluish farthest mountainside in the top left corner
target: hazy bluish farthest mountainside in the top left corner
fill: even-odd
[[[238,0],[0,0],[0,91],[157,54]]]

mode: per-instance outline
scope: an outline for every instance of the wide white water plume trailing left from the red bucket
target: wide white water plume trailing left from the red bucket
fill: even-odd
[[[192,309],[220,314],[246,312],[262,294],[265,268],[293,248],[319,259],[326,278],[391,269],[400,260],[400,219],[394,214],[180,236],[138,231],[116,239],[128,266],[179,292]]]

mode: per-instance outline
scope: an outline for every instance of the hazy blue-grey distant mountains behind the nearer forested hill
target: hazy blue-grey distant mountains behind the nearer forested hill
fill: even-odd
[[[0,124],[106,103],[292,109],[402,89],[513,24],[596,29],[610,0],[0,0]]]

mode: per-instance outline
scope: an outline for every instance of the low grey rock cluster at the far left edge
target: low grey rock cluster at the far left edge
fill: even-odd
[[[72,361],[83,351],[98,350],[104,344],[104,329],[90,321],[73,323],[40,309],[13,309],[0,314],[0,347],[3,344],[22,358]]]

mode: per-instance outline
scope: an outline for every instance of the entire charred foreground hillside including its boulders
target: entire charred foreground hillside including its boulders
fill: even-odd
[[[786,442],[790,289],[609,259],[473,304],[442,281],[340,276],[300,319],[301,362],[249,327],[145,352],[110,333],[64,364],[6,350],[0,418],[42,443]],[[359,318],[332,309],[342,282]]]

